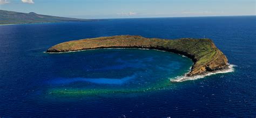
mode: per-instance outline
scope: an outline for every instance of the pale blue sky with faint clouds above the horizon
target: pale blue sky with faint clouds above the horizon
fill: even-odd
[[[0,9],[75,18],[256,15],[256,0],[0,0]]]

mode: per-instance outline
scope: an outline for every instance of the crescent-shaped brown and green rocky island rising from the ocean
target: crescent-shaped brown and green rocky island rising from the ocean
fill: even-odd
[[[149,48],[184,54],[194,61],[187,76],[215,71],[228,65],[226,56],[210,39],[158,39],[140,36],[112,36],[92,39],[73,40],[49,48],[47,52],[68,52],[94,48]]]

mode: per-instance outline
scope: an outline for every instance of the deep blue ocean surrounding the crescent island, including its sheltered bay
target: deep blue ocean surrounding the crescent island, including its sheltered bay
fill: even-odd
[[[170,82],[182,55],[100,49],[44,53],[69,40],[116,35],[210,38],[234,72]],[[0,117],[256,117],[256,16],[107,19],[0,25]]]

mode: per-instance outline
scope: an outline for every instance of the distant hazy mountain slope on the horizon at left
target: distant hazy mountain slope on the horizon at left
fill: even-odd
[[[97,19],[78,19],[48,15],[38,15],[35,12],[21,13],[0,10],[0,24],[24,24],[24,23],[57,23],[57,22],[85,22]]]

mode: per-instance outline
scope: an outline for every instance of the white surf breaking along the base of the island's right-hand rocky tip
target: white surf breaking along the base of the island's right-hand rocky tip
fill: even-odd
[[[170,79],[170,80],[171,80],[171,82],[183,82],[183,81],[187,81],[187,80],[197,80],[197,79],[201,79],[201,78],[204,78],[204,77],[207,77],[207,76],[210,76],[210,75],[214,75],[214,74],[234,72],[234,67],[236,67],[236,65],[228,64],[228,66],[226,68],[222,69],[222,70],[206,72],[204,74],[196,75],[196,76],[193,76],[193,77],[187,77],[188,73],[186,73],[183,76],[178,76],[178,77],[176,77],[174,79]]]

